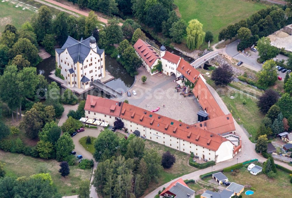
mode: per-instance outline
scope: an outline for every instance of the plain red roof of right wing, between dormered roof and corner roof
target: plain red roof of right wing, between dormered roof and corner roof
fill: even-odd
[[[195,97],[199,99],[199,103],[203,110],[207,111],[209,114],[209,119],[225,115],[201,78],[197,80],[192,92]]]

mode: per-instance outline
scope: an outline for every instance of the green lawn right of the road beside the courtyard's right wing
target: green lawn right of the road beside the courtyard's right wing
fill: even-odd
[[[234,96],[234,99],[231,99],[231,96]],[[234,90],[228,90],[225,95],[221,94],[221,98],[227,108],[232,111],[231,113],[237,123],[243,125],[252,135],[251,140],[254,140],[256,131],[264,117],[256,105],[257,100]],[[246,104],[243,104],[243,101],[246,101]]]

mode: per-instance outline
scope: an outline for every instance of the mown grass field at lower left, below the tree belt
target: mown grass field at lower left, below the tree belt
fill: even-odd
[[[47,167],[54,185],[62,195],[76,195],[81,180],[88,179],[91,175],[91,169],[79,169],[78,166],[70,166],[70,174],[65,178],[60,175],[58,170],[59,162],[56,160],[43,160],[25,156],[22,154],[9,153],[0,150],[0,161],[5,163],[4,169],[6,176],[21,177],[38,174],[37,169],[40,164]]]

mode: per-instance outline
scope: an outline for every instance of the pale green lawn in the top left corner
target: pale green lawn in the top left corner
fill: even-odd
[[[13,24],[16,28],[30,20],[33,12],[30,10],[22,10],[22,7],[15,8],[15,4],[7,1],[0,1],[0,34],[4,30],[6,24]]]

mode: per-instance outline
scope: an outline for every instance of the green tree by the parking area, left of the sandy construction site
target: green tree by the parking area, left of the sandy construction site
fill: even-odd
[[[258,55],[262,61],[274,58],[279,54],[277,47],[271,45],[269,37],[263,37],[258,40]]]

